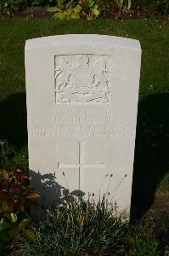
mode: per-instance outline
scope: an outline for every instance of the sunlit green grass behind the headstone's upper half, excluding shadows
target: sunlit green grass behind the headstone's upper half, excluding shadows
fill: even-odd
[[[57,34],[98,33],[140,40],[143,49],[140,99],[149,86],[168,88],[169,26],[164,20],[53,20],[11,18],[0,20],[0,100],[25,91],[25,40]]]

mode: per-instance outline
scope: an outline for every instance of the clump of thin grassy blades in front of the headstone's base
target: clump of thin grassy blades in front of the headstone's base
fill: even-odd
[[[105,201],[64,201],[33,224],[37,241],[15,244],[13,255],[123,255],[127,224],[113,217]],[[110,253],[110,254],[109,254]]]

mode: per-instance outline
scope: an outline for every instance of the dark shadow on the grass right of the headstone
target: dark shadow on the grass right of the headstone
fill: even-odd
[[[141,218],[169,170],[169,94],[155,93],[138,105],[131,218]]]

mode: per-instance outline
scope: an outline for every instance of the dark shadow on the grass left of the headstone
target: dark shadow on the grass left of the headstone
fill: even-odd
[[[27,143],[25,93],[14,94],[0,102],[0,139],[17,148]]]

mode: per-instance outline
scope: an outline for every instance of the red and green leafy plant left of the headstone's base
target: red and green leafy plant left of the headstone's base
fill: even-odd
[[[28,175],[21,166],[0,171],[0,191],[1,247],[20,232],[31,241],[35,240],[33,231],[27,229],[31,222],[28,212],[39,195],[31,188]]]

